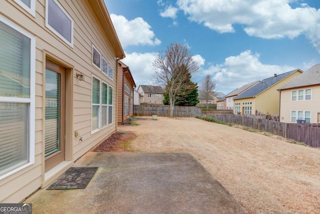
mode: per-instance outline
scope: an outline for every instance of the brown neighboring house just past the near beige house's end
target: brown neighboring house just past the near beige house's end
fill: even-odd
[[[133,115],[133,90],[135,83],[130,68],[118,61],[117,123],[123,124]]]

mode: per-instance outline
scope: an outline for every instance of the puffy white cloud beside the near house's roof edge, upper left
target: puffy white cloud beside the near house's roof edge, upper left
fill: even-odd
[[[159,45],[151,26],[142,18],[137,17],[128,21],[123,16],[110,15],[116,34],[123,48],[130,45]]]

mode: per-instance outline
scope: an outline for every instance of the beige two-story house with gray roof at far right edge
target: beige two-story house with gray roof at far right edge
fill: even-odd
[[[280,122],[320,123],[320,64],[279,87]]]

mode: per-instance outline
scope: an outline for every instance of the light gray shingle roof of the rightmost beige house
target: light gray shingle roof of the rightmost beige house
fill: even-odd
[[[311,85],[320,85],[320,64],[312,66],[287,84],[280,87],[279,90]]]

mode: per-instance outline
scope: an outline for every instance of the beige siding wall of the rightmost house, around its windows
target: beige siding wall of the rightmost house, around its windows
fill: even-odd
[[[291,101],[291,92],[311,89],[311,100]],[[281,90],[280,122],[291,123],[291,111],[310,111],[310,123],[319,123],[320,114],[320,86],[306,86],[301,88]]]

